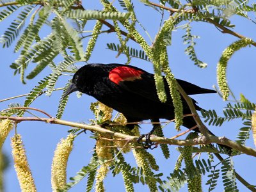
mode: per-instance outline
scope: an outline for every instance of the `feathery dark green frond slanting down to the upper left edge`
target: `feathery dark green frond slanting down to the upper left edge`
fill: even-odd
[[[10,47],[12,42],[19,36],[21,29],[24,27],[25,20],[33,11],[35,6],[26,6],[22,12],[19,13],[17,19],[13,20],[9,28],[1,36],[0,42],[3,42],[3,47]],[[1,13],[0,13],[1,14]],[[1,19],[1,15],[0,15]],[[1,21],[1,20],[0,20]]]

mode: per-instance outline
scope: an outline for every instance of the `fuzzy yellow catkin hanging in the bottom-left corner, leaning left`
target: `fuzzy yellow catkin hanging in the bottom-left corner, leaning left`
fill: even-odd
[[[34,192],[36,191],[36,186],[29,168],[26,151],[20,134],[13,136],[11,141],[14,167],[19,180],[20,189],[22,192]]]

